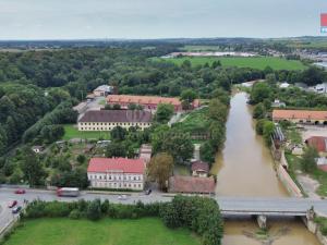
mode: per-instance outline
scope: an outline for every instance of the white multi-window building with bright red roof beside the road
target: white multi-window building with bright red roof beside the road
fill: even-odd
[[[128,158],[92,158],[87,168],[92,187],[142,191],[145,161]]]

